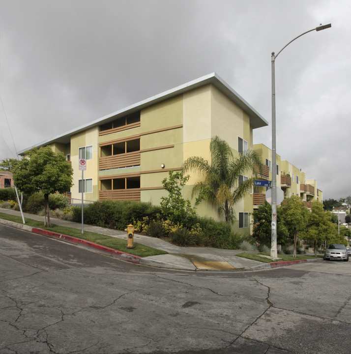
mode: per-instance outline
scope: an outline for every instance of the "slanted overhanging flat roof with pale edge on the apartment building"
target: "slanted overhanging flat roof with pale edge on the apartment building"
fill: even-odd
[[[94,126],[102,125],[104,123],[108,123],[112,120],[115,120],[119,117],[127,116],[133,112],[145,109],[155,103],[164,101],[176,95],[182,94],[184,92],[197,89],[199,87],[211,84],[217,89],[219,89],[223,94],[229,97],[237,106],[239,106],[244,112],[246,112],[250,117],[250,124],[253,129],[260,128],[263,126],[267,126],[268,122],[252,107],[250,106],[237,92],[234,91],[222,78],[220,78],[216,73],[211,73],[205,75],[199,79],[190,81],[186,84],[175,87],[174,89],[167,90],[165,92],[159,93],[155,96],[147,98],[146,100],[135,103],[131,106],[123,108],[119,111],[111,113],[102,118],[93,120],[87,124],[84,124],[76,129],[72,129],[67,131],[66,133],[60,134],[52,139],[45,140],[37,145],[34,145],[30,148],[40,148],[42,146],[46,146],[52,143],[60,143],[60,144],[68,144],[70,142],[70,137],[73,134],[78,134],[82,131],[85,131]],[[29,150],[30,148],[26,148],[22,151],[19,151],[18,154],[22,155],[24,152]]]

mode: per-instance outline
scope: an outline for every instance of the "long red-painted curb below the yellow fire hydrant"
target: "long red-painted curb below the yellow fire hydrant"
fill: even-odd
[[[140,260],[142,258],[142,257],[139,257],[139,256],[131,255],[131,254],[126,253],[126,252],[115,250],[115,249],[110,248],[110,247],[99,245],[97,243],[90,242],[90,241],[87,241],[87,240],[84,240],[84,239],[78,238],[78,237],[62,235],[62,234],[59,234],[59,233],[55,233],[55,232],[44,230],[44,229],[38,229],[38,228],[32,228],[32,232],[36,233],[36,234],[39,234],[39,235],[44,235],[44,236],[48,236],[48,237],[52,237],[52,238],[58,238],[58,239],[61,239],[61,240],[67,241],[67,242],[79,243],[79,244],[83,244],[83,245],[88,246],[88,247],[96,248],[98,250],[111,253],[114,256],[116,256],[117,258],[120,258],[120,259],[122,259],[124,261],[129,261],[129,262],[133,262],[133,263],[140,263]]]

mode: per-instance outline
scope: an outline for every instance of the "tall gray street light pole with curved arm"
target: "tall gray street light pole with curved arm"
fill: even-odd
[[[275,131],[275,59],[278,57],[280,52],[286,48],[290,43],[292,43],[295,39],[301,37],[302,35],[312,32],[314,30],[320,31],[322,29],[328,29],[331,27],[331,24],[320,25],[314,29],[309,29],[306,32],[301,33],[294,39],[292,39],[287,45],[285,45],[277,55],[272,53],[272,239],[271,239],[271,249],[270,256],[278,257],[277,250],[277,154],[276,154],[276,131]]]

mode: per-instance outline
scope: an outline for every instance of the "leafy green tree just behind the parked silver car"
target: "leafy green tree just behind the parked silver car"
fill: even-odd
[[[329,240],[335,231],[335,225],[331,221],[330,211],[325,211],[320,202],[312,203],[311,212],[307,215],[306,231],[304,236],[313,242],[315,257],[317,257],[317,245],[324,240]]]

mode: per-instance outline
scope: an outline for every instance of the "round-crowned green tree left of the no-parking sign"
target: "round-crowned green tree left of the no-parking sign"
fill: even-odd
[[[14,183],[24,193],[44,194],[45,225],[51,227],[49,194],[69,190],[73,169],[62,153],[55,154],[50,147],[32,148],[25,155],[12,172]]]

